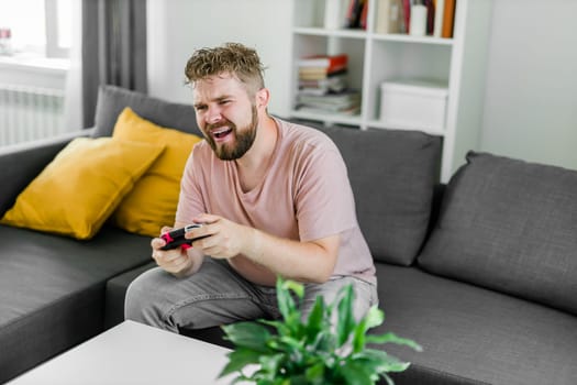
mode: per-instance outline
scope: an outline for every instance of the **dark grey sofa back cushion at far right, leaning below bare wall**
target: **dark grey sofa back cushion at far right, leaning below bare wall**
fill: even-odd
[[[577,172],[469,153],[419,264],[577,314]]]

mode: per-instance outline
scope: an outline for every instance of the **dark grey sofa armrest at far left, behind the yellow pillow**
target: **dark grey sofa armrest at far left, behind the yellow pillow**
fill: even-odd
[[[91,135],[93,129],[0,147],[0,217],[18,195],[73,139]]]

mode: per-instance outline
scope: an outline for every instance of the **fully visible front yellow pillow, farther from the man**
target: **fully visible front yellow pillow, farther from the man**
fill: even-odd
[[[90,239],[163,150],[111,138],[75,139],[18,196],[0,223]]]

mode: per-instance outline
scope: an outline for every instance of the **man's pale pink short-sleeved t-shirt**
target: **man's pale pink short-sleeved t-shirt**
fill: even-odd
[[[208,212],[304,242],[340,233],[333,276],[375,283],[375,265],[336,145],[319,130],[275,121],[279,135],[274,158],[262,183],[246,193],[236,163],[219,160],[206,141],[197,143],[182,175],[176,220],[189,223]]]

